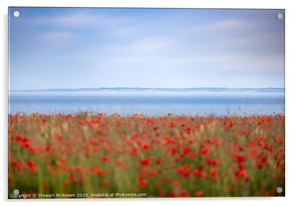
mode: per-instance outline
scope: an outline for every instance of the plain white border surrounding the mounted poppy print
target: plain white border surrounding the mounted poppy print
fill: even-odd
[[[1,0],[1,186],[0,200],[3,205],[144,205],[162,204],[251,206],[269,204],[269,206],[293,205],[297,192],[296,147],[296,36],[297,9],[294,1],[284,0]],[[7,7],[8,6],[57,6],[57,7],[186,7],[186,8],[274,8],[286,9],[286,197],[285,198],[186,198],[186,199],[96,199],[96,200],[49,200],[49,201],[8,201],[7,200]]]

